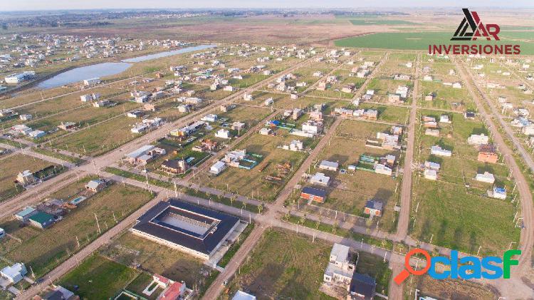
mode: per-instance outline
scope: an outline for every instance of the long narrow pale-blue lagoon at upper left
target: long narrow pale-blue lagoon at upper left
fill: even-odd
[[[166,56],[173,56],[181,53],[187,53],[192,51],[204,50],[207,48],[213,48],[215,45],[199,45],[194,47],[182,48],[172,51],[164,51],[145,56],[138,56],[135,58],[128,58],[120,63],[96,63],[90,66],[83,66],[73,68],[72,70],[59,73],[52,78],[38,83],[38,88],[57,88],[58,86],[64,86],[66,84],[83,81],[88,78],[112,76],[118,73],[122,73],[132,66],[132,63],[139,63],[141,61],[149,61],[155,58],[162,58]]]

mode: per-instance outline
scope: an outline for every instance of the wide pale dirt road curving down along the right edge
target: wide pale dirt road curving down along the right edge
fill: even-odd
[[[486,94],[483,93],[483,90],[476,86],[476,83],[473,82],[473,78],[468,76],[467,71],[464,69],[464,66],[456,60],[454,60],[454,63],[456,64],[456,68],[459,70],[461,78],[464,80],[464,83],[466,83],[466,88],[468,89],[471,96],[473,96],[473,100],[478,106],[481,118],[486,121],[486,125],[488,126],[491,133],[493,133],[493,141],[498,145],[499,150],[501,150],[501,153],[504,155],[506,165],[511,167],[513,178],[517,183],[518,192],[520,196],[521,214],[523,217],[523,222],[525,224],[525,227],[521,230],[520,234],[520,249],[522,253],[519,257],[519,266],[518,269],[512,272],[511,279],[504,281],[495,280],[491,281],[491,284],[497,286],[503,296],[507,296],[508,299],[522,299],[525,295],[534,294],[534,290],[530,286],[523,283],[521,279],[523,275],[532,273],[531,259],[532,249],[534,245],[532,194],[530,193],[528,183],[525,180],[523,173],[521,172],[518,164],[515,162],[515,159],[513,157],[513,150],[511,150],[511,148],[509,148],[508,145],[505,143],[505,141],[503,140],[503,136],[498,130],[497,125],[493,123],[492,117],[495,117],[498,120],[502,120],[498,111],[496,111],[494,106],[491,104],[491,101],[486,97]],[[486,103],[491,108],[491,112],[488,113],[486,111],[486,108],[483,105],[484,103]],[[503,124],[501,122],[501,126],[502,125],[506,124]],[[513,135],[510,135],[510,133],[508,133],[506,127],[503,128],[509,135],[509,138],[512,138],[512,140],[514,141],[513,143],[515,148],[518,149],[520,155],[523,156],[523,152],[521,151],[523,147],[521,147],[520,144],[516,143]],[[534,167],[534,163],[532,163],[532,160],[530,160],[530,156],[528,156],[528,154],[526,157],[523,158],[528,163],[529,167]],[[488,224],[488,226],[491,226],[491,224]]]

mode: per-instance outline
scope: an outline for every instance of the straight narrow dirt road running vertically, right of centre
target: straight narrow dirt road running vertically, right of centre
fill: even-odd
[[[417,118],[417,100],[419,99],[419,72],[421,70],[421,55],[417,55],[415,65],[414,90],[412,90],[412,107],[408,123],[408,140],[404,152],[404,172],[402,175],[400,214],[397,223],[397,238],[404,239],[408,234],[410,222],[410,202],[412,201],[412,162],[414,161],[415,123]]]

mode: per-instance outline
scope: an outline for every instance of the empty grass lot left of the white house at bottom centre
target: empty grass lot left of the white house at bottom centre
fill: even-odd
[[[318,291],[332,245],[280,229],[269,229],[229,284],[258,299],[332,299]]]

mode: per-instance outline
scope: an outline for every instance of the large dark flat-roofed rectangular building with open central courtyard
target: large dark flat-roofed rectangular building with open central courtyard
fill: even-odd
[[[157,203],[132,232],[201,259],[209,259],[239,224],[239,218],[181,200]]]

